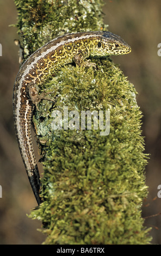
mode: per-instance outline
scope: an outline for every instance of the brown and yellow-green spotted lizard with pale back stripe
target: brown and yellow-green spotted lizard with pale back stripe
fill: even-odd
[[[89,56],[120,55],[131,52],[131,47],[120,36],[110,32],[80,32],[66,34],[49,41],[35,51],[21,66],[14,84],[13,109],[15,133],[22,160],[38,204],[41,203],[40,176],[34,155],[31,119],[34,104],[46,99],[35,89],[45,83],[53,72],[67,63],[90,66],[84,62]]]

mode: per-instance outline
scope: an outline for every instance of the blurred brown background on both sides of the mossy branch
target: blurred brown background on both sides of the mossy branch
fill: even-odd
[[[143,112],[145,150],[150,154],[146,166],[148,197],[143,204],[144,225],[152,227],[152,243],[161,244],[161,43],[160,0],[104,0],[104,23],[109,31],[120,35],[132,47],[126,56],[115,56],[121,70],[137,92],[137,102]],[[17,29],[13,0],[0,0],[0,244],[40,244],[45,235],[37,229],[41,222],[27,217],[36,201],[30,188],[18,150],[13,125],[13,85],[19,70]],[[35,152],[37,151],[35,145]],[[39,157],[38,157],[39,158]],[[39,165],[41,169],[41,164]],[[40,170],[42,172],[42,169]]]

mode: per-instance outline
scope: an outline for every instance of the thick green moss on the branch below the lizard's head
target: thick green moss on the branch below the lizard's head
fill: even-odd
[[[110,109],[110,133],[53,131],[51,125],[46,134],[39,129],[42,141],[50,135],[44,146],[45,202],[31,216],[45,224],[45,243],[147,243],[150,238],[141,218],[147,157],[135,89],[110,60],[92,61],[97,70],[61,68],[54,78],[59,96],[53,109]],[[47,114],[44,126],[46,119],[53,120]],[[40,119],[38,127],[41,124]]]

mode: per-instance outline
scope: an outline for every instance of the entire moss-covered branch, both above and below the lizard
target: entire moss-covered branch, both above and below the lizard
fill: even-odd
[[[55,36],[99,31],[102,1],[15,0],[24,59]],[[133,84],[109,58],[92,59],[97,69],[62,67],[41,90],[53,90],[55,104],[42,101],[34,124],[44,161],[40,208],[44,244],[147,244],[141,205],[147,196],[141,112]],[[110,133],[53,130],[53,110],[110,110]],[[94,128],[94,127],[92,127]]]

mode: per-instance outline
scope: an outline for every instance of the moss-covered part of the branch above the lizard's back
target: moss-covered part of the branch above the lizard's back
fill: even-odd
[[[14,0],[24,59],[58,35],[104,27],[102,0]]]

